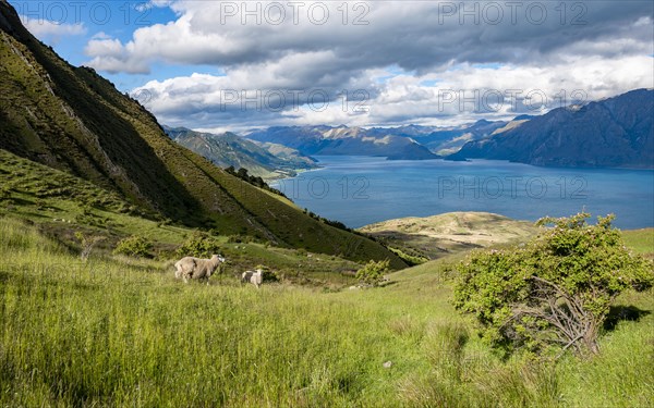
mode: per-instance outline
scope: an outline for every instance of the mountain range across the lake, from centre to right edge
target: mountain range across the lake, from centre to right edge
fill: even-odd
[[[245,137],[303,154],[390,160],[488,159],[543,166],[654,169],[654,90],[635,89],[543,115],[459,126],[277,126]]]

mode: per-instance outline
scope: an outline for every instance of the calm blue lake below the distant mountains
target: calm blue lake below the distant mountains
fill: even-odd
[[[518,220],[585,210],[621,228],[654,226],[654,171],[537,168],[506,161],[389,161],[322,156],[323,166],[271,185],[298,206],[350,227],[451,211]]]

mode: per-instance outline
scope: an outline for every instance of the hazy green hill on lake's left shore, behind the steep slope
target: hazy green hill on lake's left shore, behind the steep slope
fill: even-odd
[[[296,170],[317,168],[314,159],[298,150],[255,143],[229,132],[211,134],[168,126],[164,126],[164,129],[174,141],[220,168],[243,168],[250,174],[264,178],[294,176]]]

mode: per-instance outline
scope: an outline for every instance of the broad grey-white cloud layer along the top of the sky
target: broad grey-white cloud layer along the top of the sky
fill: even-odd
[[[652,44],[651,36],[644,35],[651,32],[646,24],[651,23],[651,7],[643,2],[586,2],[584,24],[573,24],[572,16],[559,15],[556,4],[549,3],[547,18],[535,24],[530,16],[535,13],[525,5],[530,2],[520,3],[524,10],[514,17],[514,7],[502,7],[497,24],[483,2],[464,7],[470,11],[474,10],[471,4],[477,5],[472,16],[448,13],[447,7],[457,3],[425,1],[346,3],[344,9],[338,2],[320,1],[298,2],[296,7],[270,1],[180,0],[167,4],[179,18],[137,29],[124,45],[125,61],[233,66],[292,53],[331,51],[337,57],[331,71],[390,64],[431,71],[450,61],[540,62],[584,41],[621,39],[630,46],[621,52],[635,52]],[[596,50],[606,51],[615,49]]]

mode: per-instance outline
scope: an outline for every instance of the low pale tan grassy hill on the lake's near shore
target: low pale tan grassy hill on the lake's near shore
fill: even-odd
[[[487,212],[450,212],[403,218],[359,228],[408,260],[433,260],[474,248],[497,247],[529,239],[537,232],[528,221]],[[416,263],[417,263],[416,262]]]

